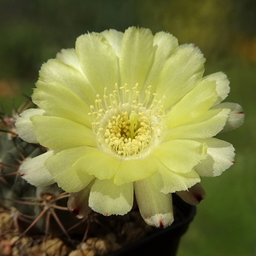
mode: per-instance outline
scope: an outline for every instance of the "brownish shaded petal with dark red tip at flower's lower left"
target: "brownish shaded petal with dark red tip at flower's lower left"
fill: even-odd
[[[69,195],[67,207],[77,218],[85,218],[91,212],[89,207],[89,195],[93,183],[94,181],[79,192],[71,193]]]

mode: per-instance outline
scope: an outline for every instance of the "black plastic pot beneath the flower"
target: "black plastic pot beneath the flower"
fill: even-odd
[[[181,236],[188,230],[196,209],[173,195],[175,221],[164,229],[112,253],[111,256],[175,256]]]

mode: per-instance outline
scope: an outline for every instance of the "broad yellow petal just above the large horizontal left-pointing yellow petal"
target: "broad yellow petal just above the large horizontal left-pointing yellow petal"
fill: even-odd
[[[84,101],[60,84],[38,81],[32,101],[51,115],[73,120],[88,127],[90,124],[90,107]]]

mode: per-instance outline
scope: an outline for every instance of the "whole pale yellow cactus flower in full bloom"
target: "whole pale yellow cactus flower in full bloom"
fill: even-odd
[[[166,32],[130,27],[80,36],[39,73],[19,135],[47,153],[26,160],[29,183],[72,193],[79,217],[131,210],[134,193],[144,220],[173,221],[171,193],[216,176],[234,160],[230,143],[212,138],[241,125],[224,73],[203,77],[205,59],[193,44]],[[89,207],[88,207],[89,206]]]

